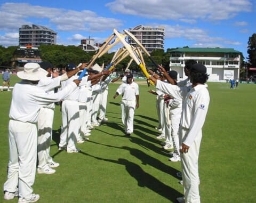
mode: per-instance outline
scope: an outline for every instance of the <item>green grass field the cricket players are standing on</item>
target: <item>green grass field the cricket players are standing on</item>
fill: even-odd
[[[12,85],[19,81],[12,76]],[[107,124],[92,131],[90,141],[77,144],[81,153],[58,151],[61,113],[55,109],[51,155],[60,163],[52,175],[36,174],[34,192],[41,203],[70,202],[174,202],[183,195],[176,173],[156,139],[155,95],[140,85],[140,108],[135,111],[134,133],[123,134],[119,84],[110,84]],[[256,85],[208,83],[211,102],[203,127],[199,156],[202,202],[256,202],[255,117]],[[9,157],[8,122],[11,92],[0,92],[0,185],[6,181]],[[0,193],[0,202],[5,201]]]

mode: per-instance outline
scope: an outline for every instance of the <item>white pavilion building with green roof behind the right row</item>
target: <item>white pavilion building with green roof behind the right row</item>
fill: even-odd
[[[225,82],[239,78],[242,53],[234,48],[177,48],[170,51],[170,70],[178,72],[180,80],[187,78],[184,67],[187,60],[202,63],[209,74],[208,81]]]

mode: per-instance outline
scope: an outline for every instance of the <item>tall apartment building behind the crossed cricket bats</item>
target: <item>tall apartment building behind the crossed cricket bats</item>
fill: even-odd
[[[164,27],[158,26],[153,28],[151,26],[136,26],[134,28],[129,28],[130,33],[132,33],[140,43],[146,48],[150,53],[154,50],[164,49]],[[129,43],[136,45],[130,38],[128,38]]]

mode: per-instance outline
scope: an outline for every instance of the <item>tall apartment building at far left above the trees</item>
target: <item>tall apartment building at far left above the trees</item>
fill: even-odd
[[[19,28],[19,46],[38,47],[57,43],[57,33],[45,26],[22,25]]]

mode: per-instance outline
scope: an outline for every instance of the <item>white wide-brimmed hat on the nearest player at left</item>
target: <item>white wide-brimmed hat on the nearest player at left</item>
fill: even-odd
[[[17,72],[17,76],[21,79],[37,81],[48,74],[46,70],[40,67],[38,63],[26,63],[23,71]]]

